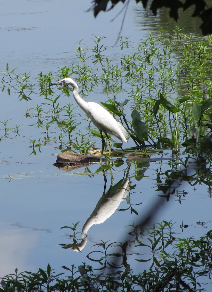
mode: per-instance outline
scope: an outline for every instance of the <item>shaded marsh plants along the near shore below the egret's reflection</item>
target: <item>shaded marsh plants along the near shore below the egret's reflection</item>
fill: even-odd
[[[74,238],[77,224],[69,227]],[[139,272],[128,263],[132,254],[126,244],[100,241],[87,255],[94,267],[62,266],[59,274],[49,264],[46,271],[34,273],[15,269],[1,278],[0,291],[202,291],[211,284],[211,231],[195,239],[180,237],[172,222],[130,227],[137,230],[131,232],[131,249],[134,246]]]

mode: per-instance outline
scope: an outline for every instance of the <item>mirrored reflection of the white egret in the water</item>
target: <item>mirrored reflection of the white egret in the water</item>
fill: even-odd
[[[63,248],[71,248],[74,251],[81,251],[88,240],[87,233],[90,227],[94,224],[101,224],[105,222],[108,218],[113,215],[115,210],[120,205],[121,201],[129,194],[129,187],[131,181],[128,178],[129,171],[124,173],[124,178],[122,178],[118,183],[113,185],[113,174],[111,172],[111,185],[106,192],[106,183],[107,178],[103,170],[104,175],[104,192],[102,197],[99,199],[94,211],[86,220],[83,228],[82,228],[82,240],[81,242],[77,243],[76,239],[74,239],[73,244],[60,244]]]

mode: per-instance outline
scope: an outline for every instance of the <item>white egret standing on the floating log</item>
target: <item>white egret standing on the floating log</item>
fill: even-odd
[[[102,140],[102,148],[101,148],[101,159],[105,147],[105,141],[102,135],[102,132],[105,133],[106,137],[109,141],[109,157],[111,156],[111,140],[109,139],[107,134],[114,135],[121,142],[127,142],[129,138],[127,137],[127,131],[122,126],[120,122],[117,122],[114,117],[101,105],[96,102],[86,102],[79,96],[79,87],[71,78],[64,78],[59,82],[51,83],[50,85],[71,85],[73,87],[73,96],[76,103],[81,107],[81,109],[88,115],[93,124],[99,129],[101,140]]]

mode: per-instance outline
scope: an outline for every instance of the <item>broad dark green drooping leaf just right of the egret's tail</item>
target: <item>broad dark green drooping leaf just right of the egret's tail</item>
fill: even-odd
[[[140,114],[136,109],[133,109],[132,114],[132,127],[136,136],[140,140],[147,140],[148,129],[144,122],[141,121]]]

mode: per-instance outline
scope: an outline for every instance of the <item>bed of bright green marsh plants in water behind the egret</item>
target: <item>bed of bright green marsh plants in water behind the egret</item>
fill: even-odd
[[[121,121],[137,147],[179,149],[183,143],[186,147],[208,147],[212,130],[211,36],[196,38],[177,27],[172,37],[161,30],[157,36],[150,34],[136,48],[131,47],[127,37],[121,37],[122,55],[115,59],[104,46],[104,37],[93,36],[93,42],[93,48],[88,48],[80,41],[74,63],[57,72],[40,72],[34,79],[29,73],[17,74],[17,68],[9,69],[7,64],[2,91],[9,95],[11,89],[17,90],[18,98],[28,102],[35,95],[44,97],[28,111],[38,118],[34,127],[48,123],[50,128],[56,128],[58,137],[61,131],[65,134],[63,147],[58,139],[61,151],[87,153],[95,143],[93,137],[82,138],[80,143],[89,145],[81,151],[79,138],[76,143],[81,117],[76,115],[75,106],[60,101],[61,95],[72,95],[71,89],[63,86],[53,92],[49,87],[53,79],[65,77],[77,81],[83,98],[92,91],[104,93],[107,101],[102,105]],[[88,120],[81,133],[84,137],[89,131],[95,135],[93,130]],[[49,141],[53,142],[53,138],[49,136]],[[120,143],[115,147],[121,147]]]

